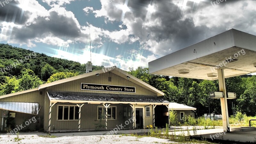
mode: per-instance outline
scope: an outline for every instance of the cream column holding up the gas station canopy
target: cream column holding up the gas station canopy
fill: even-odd
[[[228,103],[227,103],[227,93],[226,93],[224,69],[218,69],[218,79],[219,79],[220,92],[223,92],[223,94],[224,94],[224,98],[220,98],[223,131],[224,132],[230,132],[230,130],[229,130],[229,120],[228,120]]]

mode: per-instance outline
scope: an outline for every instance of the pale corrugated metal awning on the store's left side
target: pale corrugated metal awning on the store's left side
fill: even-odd
[[[38,103],[0,102],[0,109],[37,115]]]

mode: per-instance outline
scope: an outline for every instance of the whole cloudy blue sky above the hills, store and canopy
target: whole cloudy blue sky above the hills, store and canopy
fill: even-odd
[[[0,43],[123,70],[232,28],[256,35],[256,0],[0,1]]]

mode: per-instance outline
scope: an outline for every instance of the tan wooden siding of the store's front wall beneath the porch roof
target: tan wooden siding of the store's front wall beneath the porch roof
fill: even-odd
[[[58,121],[57,120],[57,108],[58,105],[74,105],[72,103],[56,103],[52,107],[52,116],[51,116],[51,130],[53,130],[53,127],[55,130],[78,130],[78,120],[76,121]],[[98,106],[103,106],[100,104],[84,104],[84,106],[81,108],[81,130],[95,130],[96,124],[100,123],[100,120],[97,120],[97,110]],[[117,128],[117,126],[125,125],[125,121],[129,121],[128,119],[131,117],[124,117],[124,107],[130,107],[127,104],[110,104],[110,106],[116,106],[116,120],[109,120],[108,119],[108,129],[114,129]],[[150,117],[145,117],[145,107],[146,105],[135,105],[136,107],[144,107],[144,122],[145,122],[145,128],[147,125],[153,125],[153,111],[152,111],[152,105],[150,105]],[[48,116],[49,117],[49,116]],[[126,122],[129,123],[124,128],[132,128],[132,122]],[[105,125],[105,119],[101,121],[102,125]],[[117,125],[117,126],[116,126]],[[44,126],[45,130],[48,130],[48,121],[47,125]],[[119,126],[120,127],[120,126]]]

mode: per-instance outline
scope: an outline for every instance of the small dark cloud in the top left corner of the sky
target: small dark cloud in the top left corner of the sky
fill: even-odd
[[[18,5],[18,1],[12,0],[8,4],[0,4],[0,21],[13,22],[15,24],[24,24],[31,13],[29,11],[22,10]],[[5,1],[4,1],[5,2]]]

